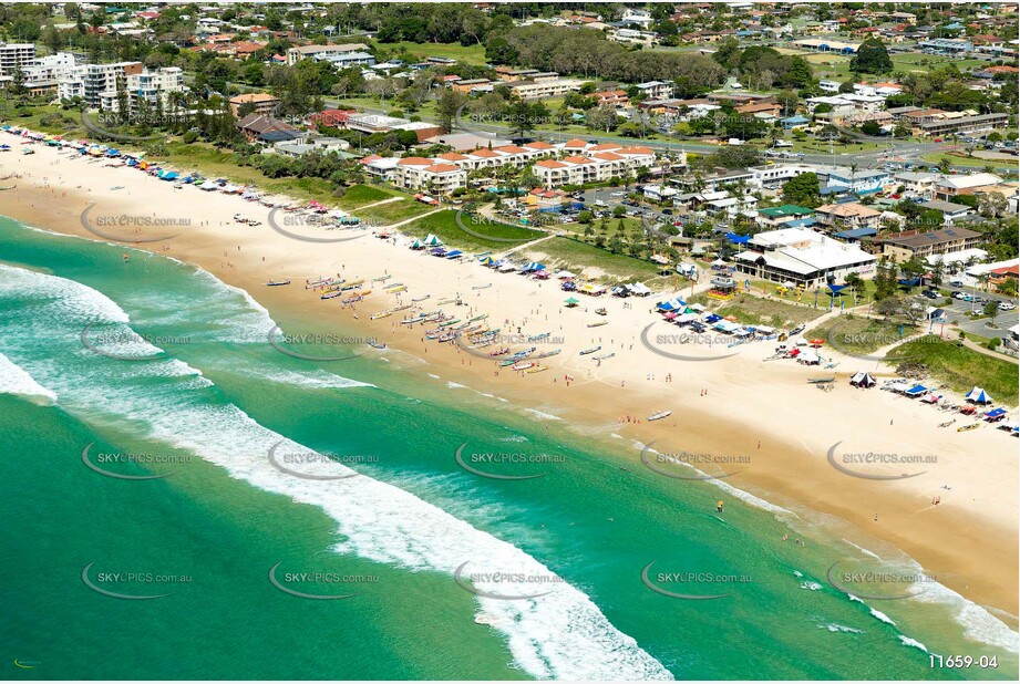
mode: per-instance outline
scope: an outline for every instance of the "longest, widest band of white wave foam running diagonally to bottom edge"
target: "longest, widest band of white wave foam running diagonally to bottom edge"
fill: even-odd
[[[27,291],[55,292],[55,299],[69,312],[54,319],[53,333],[44,339],[48,356],[25,367],[40,382],[54,387],[70,408],[89,414],[130,421],[137,428],[147,425],[153,438],[186,448],[219,465],[233,477],[245,479],[266,491],[289,496],[295,501],[323,509],[337,522],[343,541],[339,552],[354,553],[377,562],[391,563],[415,571],[452,574],[464,562],[465,572],[505,572],[543,577],[552,593],[523,600],[478,598],[481,609],[497,619],[493,629],[507,639],[519,667],[537,678],[568,680],[647,680],[672,678],[659,662],[638,646],[630,636],[614,628],[595,603],[556,576],[540,562],[513,545],[483,532],[439,507],[392,485],[365,476],[317,481],[286,475],[272,467],[269,449],[308,450],[299,444],[261,426],[233,404],[210,402],[207,380],[194,376],[195,370],[182,362],[128,363],[97,360],[95,363],[53,363],[55,353],[74,344],[83,314],[105,321],[126,323],[127,315],[101,293],[56,277],[20,274]],[[40,282],[38,279],[42,279]],[[0,279],[10,288],[8,279]],[[44,301],[44,300],[43,300]],[[29,355],[39,349],[27,334],[18,335]],[[166,363],[184,366],[193,377],[166,379],[161,371]],[[123,370],[121,370],[123,369]],[[110,372],[121,374],[111,384]],[[153,383],[153,376],[163,383]],[[115,391],[114,391],[115,390]],[[144,398],[140,396],[145,392]],[[238,448],[244,445],[244,448]],[[318,467],[348,473],[338,463]],[[451,580],[452,581],[452,580]],[[474,582],[474,588],[498,594],[534,592],[535,585],[508,582]]]

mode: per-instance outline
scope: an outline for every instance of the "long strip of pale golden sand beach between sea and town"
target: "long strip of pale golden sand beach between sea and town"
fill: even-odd
[[[22,222],[97,239],[79,222],[90,200],[103,211],[205,217],[168,242],[168,250],[161,242],[128,246],[194,263],[248,292],[270,313],[298,315],[323,330],[340,322],[346,329],[378,336],[390,348],[426,359],[429,367],[444,380],[480,392],[484,385],[532,411],[553,411],[563,418],[557,426],[569,426],[586,437],[608,443],[616,433],[628,445],[619,457],[637,467],[642,466],[638,448],[631,446],[635,443],[656,443],[660,450],[750,455],[750,466],[727,483],[779,506],[841,518],[900,549],[929,573],[950,578],[942,583],[969,600],[1016,613],[1017,462],[1010,437],[989,428],[962,434],[938,431],[935,424],[946,414],[878,390],[851,390],[846,379],[856,370],[866,370],[864,363],[857,369],[854,360],[844,359],[834,373],[837,386],[832,393],[820,393],[805,383],[812,371],[763,365],[758,354],[771,351],[769,342],[742,345],[736,355],[718,362],[663,363],[636,342],[633,332],[656,320],[645,312],[652,299],[627,300],[636,303],[631,309],[622,309],[619,300],[600,300],[598,304],[610,310],[610,323],[586,329],[586,322],[596,317],[560,310],[566,294],[553,281],[543,284],[494,273],[473,262],[427,258],[368,237],[329,246],[297,242],[268,228],[269,210],[259,205],[192,187],[175,190],[171,184],[131,169],[58,157],[50,148],[39,148],[31,156],[4,155],[0,163],[4,170],[23,174],[18,187],[3,194],[2,209]],[[116,186],[126,191],[100,189]],[[231,222],[233,214],[241,210],[264,225]],[[161,235],[159,228],[146,230]],[[338,267],[342,273],[365,279],[392,273],[394,280],[409,286],[409,300],[432,294],[423,302],[426,308],[430,301],[460,291],[472,309],[499,319],[494,325],[505,319],[519,323],[525,334],[563,333],[564,352],[549,360],[547,373],[522,375],[504,370],[494,374],[494,364],[453,345],[440,349],[423,343],[422,329],[406,330],[396,323],[399,317],[370,320],[372,312],[392,307],[392,296],[377,291],[359,305],[356,320],[351,310],[341,310],[337,302],[297,289],[305,278],[337,272]],[[295,284],[266,288],[270,277],[291,278]],[[491,288],[471,289],[490,281]],[[459,313],[466,310],[455,309]],[[549,318],[550,313],[557,318]],[[616,357],[594,367],[589,359],[578,356],[578,350],[593,344],[614,350]],[[663,382],[666,373],[677,377]],[[568,386],[565,375],[577,380]],[[673,414],[648,423],[645,416],[661,408]],[[619,423],[626,415],[639,416],[639,422]],[[896,425],[886,425],[890,415]],[[843,428],[835,431],[841,424]],[[854,442],[862,450],[937,454],[935,476],[875,483],[842,475],[826,463],[825,452],[837,441],[836,432],[845,433],[844,441],[867,434]],[[945,483],[951,483],[952,493],[939,490]],[[942,506],[930,506],[931,497],[940,493],[946,498]],[[875,514],[879,515],[877,524]],[[931,535],[934,526],[938,535]],[[952,545],[945,543],[946,539]]]

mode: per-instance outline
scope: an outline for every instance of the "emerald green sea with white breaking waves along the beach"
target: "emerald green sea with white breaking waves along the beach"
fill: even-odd
[[[907,562],[855,530],[744,504],[713,484],[621,469],[619,456],[633,454],[629,443],[586,439],[561,421],[449,386],[410,356],[367,345],[351,348],[361,356],[331,363],[285,355],[267,342],[274,322],[288,333],[311,331],[309,323],[270,319],[192,267],[142,252],[123,263],[123,252],[0,218],[7,678],[1017,675],[1016,633],[944,588],[886,601],[854,601],[832,588],[826,570],[837,560],[872,562],[841,537],[897,568]],[[155,352],[110,336],[135,331],[165,354],[101,355],[82,343],[90,324],[86,341],[103,351]],[[31,396],[21,372],[55,402]],[[280,442],[278,456],[350,456],[360,475],[315,480],[281,471],[268,456]],[[101,475],[82,462],[90,443],[92,463],[109,471],[168,477]],[[457,466],[465,443],[468,454],[560,460],[478,466],[545,475],[487,479]],[[110,453],[173,463],[102,463]],[[288,463],[302,473],[347,473]],[[713,508],[719,498],[722,516]],[[781,542],[787,532],[807,547]],[[674,599],[642,583],[652,561],[652,578],[711,572],[748,581],[657,582],[730,594]],[[465,562],[466,572],[563,582],[475,582],[503,595],[550,591],[480,599],[454,581]],[[103,595],[83,581],[90,563],[87,578],[100,589],[167,595]],[[277,563],[277,579],[354,576],[285,579],[288,588],[356,595],[285,593],[269,582]],[[125,572],[177,581],[104,574]],[[933,671],[920,644],[944,655],[996,655],[999,667]]]

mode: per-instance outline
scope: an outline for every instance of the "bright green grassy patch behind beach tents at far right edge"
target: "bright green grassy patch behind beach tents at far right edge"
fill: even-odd
[[[955,342],[933,342],[928,338],[908,342],[894,353],[924,363],[933,377],[951,390],[969,392],[977,385],[985,387],[996,401],[1017,405],[1017,366],[1008,361],[957,346]]]

